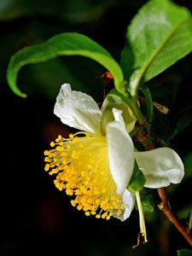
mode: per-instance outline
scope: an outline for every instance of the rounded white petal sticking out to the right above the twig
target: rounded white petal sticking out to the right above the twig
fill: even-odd
[[[145,152],[135,152],[139,169],[143,172],[147,188],[166,187],[170,183],[180,183],[184,175],[183,162],[172,148],[156,148]]]

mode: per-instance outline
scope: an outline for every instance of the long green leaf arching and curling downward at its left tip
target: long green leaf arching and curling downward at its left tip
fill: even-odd
[[[61,33],[43,44],[26,47],[13,55],[7,71],[10,88],[16,95],[25,97],[26,94],[23,94],[16,84],[20,68],[26,64],[48,61],[59,55],[81,55],[97,61],[112,73],[117,90],[125,90],[122,70],[108,51],[90,38],[75,32]],[[75,68],[78,69],[74,63],[74,72]]]

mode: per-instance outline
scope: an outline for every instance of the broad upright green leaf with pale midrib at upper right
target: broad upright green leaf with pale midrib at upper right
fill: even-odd
[[[125,79],[130,79],[131,96],[137,95],[141,82],[154,78],[191,50],[189,10],[169,0],[146,3],[128,26],[121,57]]]

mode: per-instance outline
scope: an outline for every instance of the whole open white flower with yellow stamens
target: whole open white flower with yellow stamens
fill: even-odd
[[[59,136],[51,143],[54,148],[45,151],[45,170],[57,174],[56,187],[73,195],[72,205],[86,215],[125,220],[135,203],[135,195],[126,189],[135,160],[147,180],[145,187],[154,189],[180,183],[183,163],[171,148],[134,152],[129,132],[135,119],[128,108],[124,107],[124,113],[118,109],[122,107],[118,101],[112,118],[104,122],[103,134],[105,105],[100,110],[91,96],[71,90],[70,84],[61,86],[54,113],[80,132],[68,139]]]

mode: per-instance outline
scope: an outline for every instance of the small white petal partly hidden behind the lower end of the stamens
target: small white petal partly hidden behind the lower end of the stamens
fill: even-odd
[[[123,194],[123,204],[124,212],[120,216],[117,216],[115,212],[113,212],[113,217],[119,218],[121,221],[124,221],[126,218],[130,217],[133,207],[135,205],[135,195],[131,194],[131,192],[129,192],[127,189],[125,189]]]

